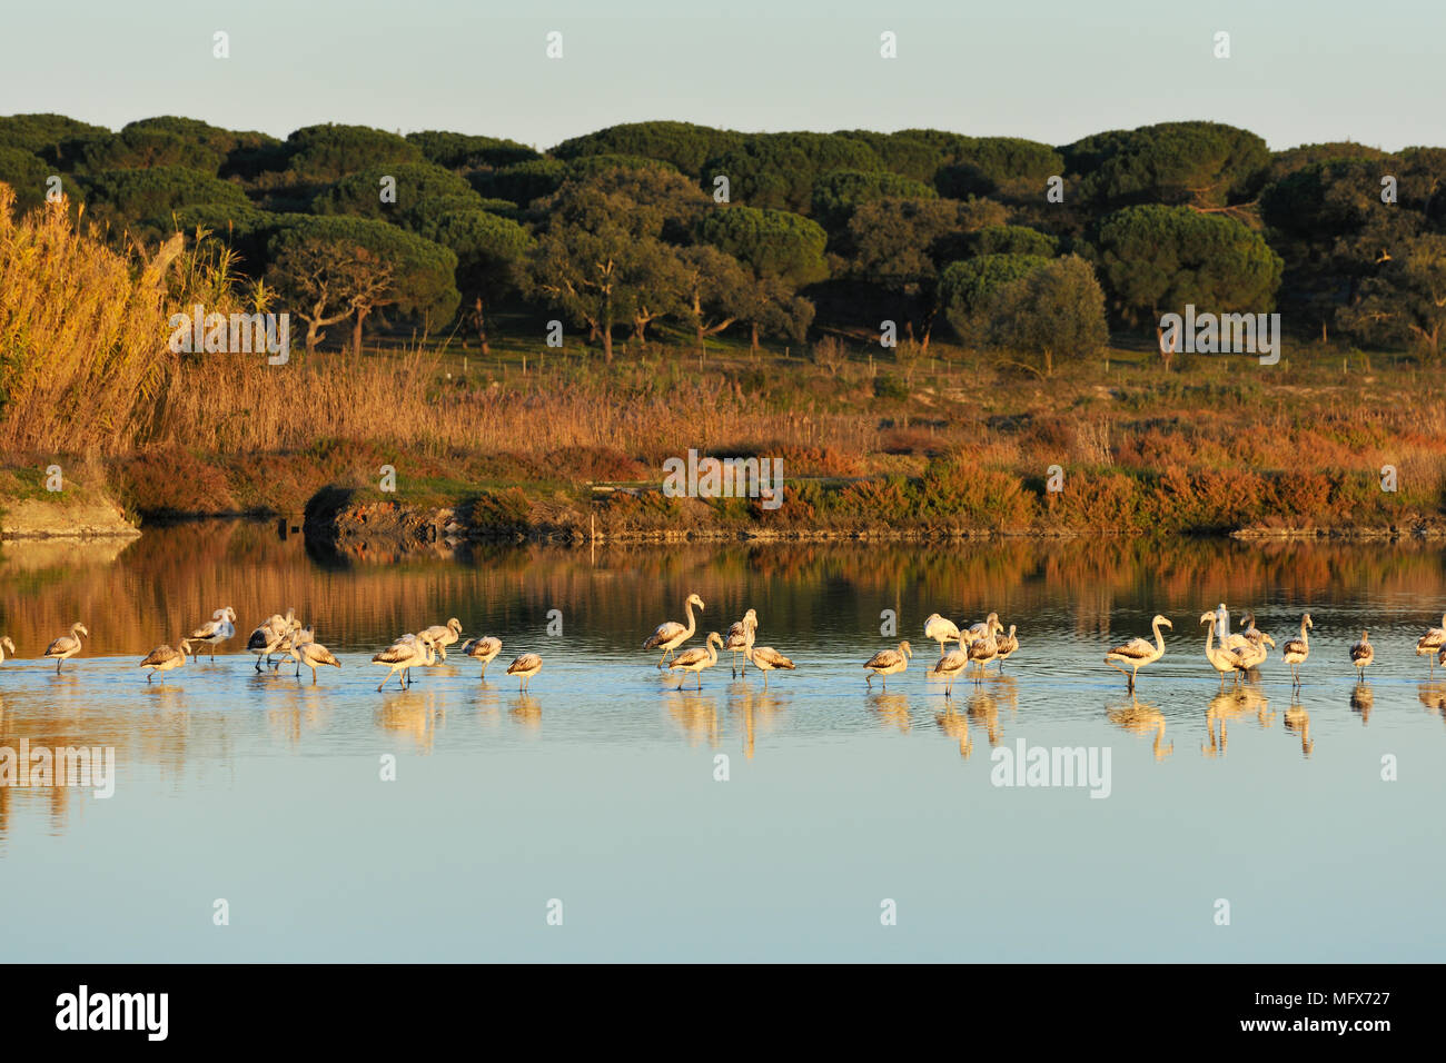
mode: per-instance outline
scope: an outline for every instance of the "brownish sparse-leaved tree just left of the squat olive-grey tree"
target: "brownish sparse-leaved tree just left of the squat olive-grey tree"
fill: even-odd
[[[866,202],[849,220],[849,275],[902,299],[905,331],[927,351],[941,305],[940,268],[969,253],[969,233],[1002,221],[1004,207],[988,200]]]

